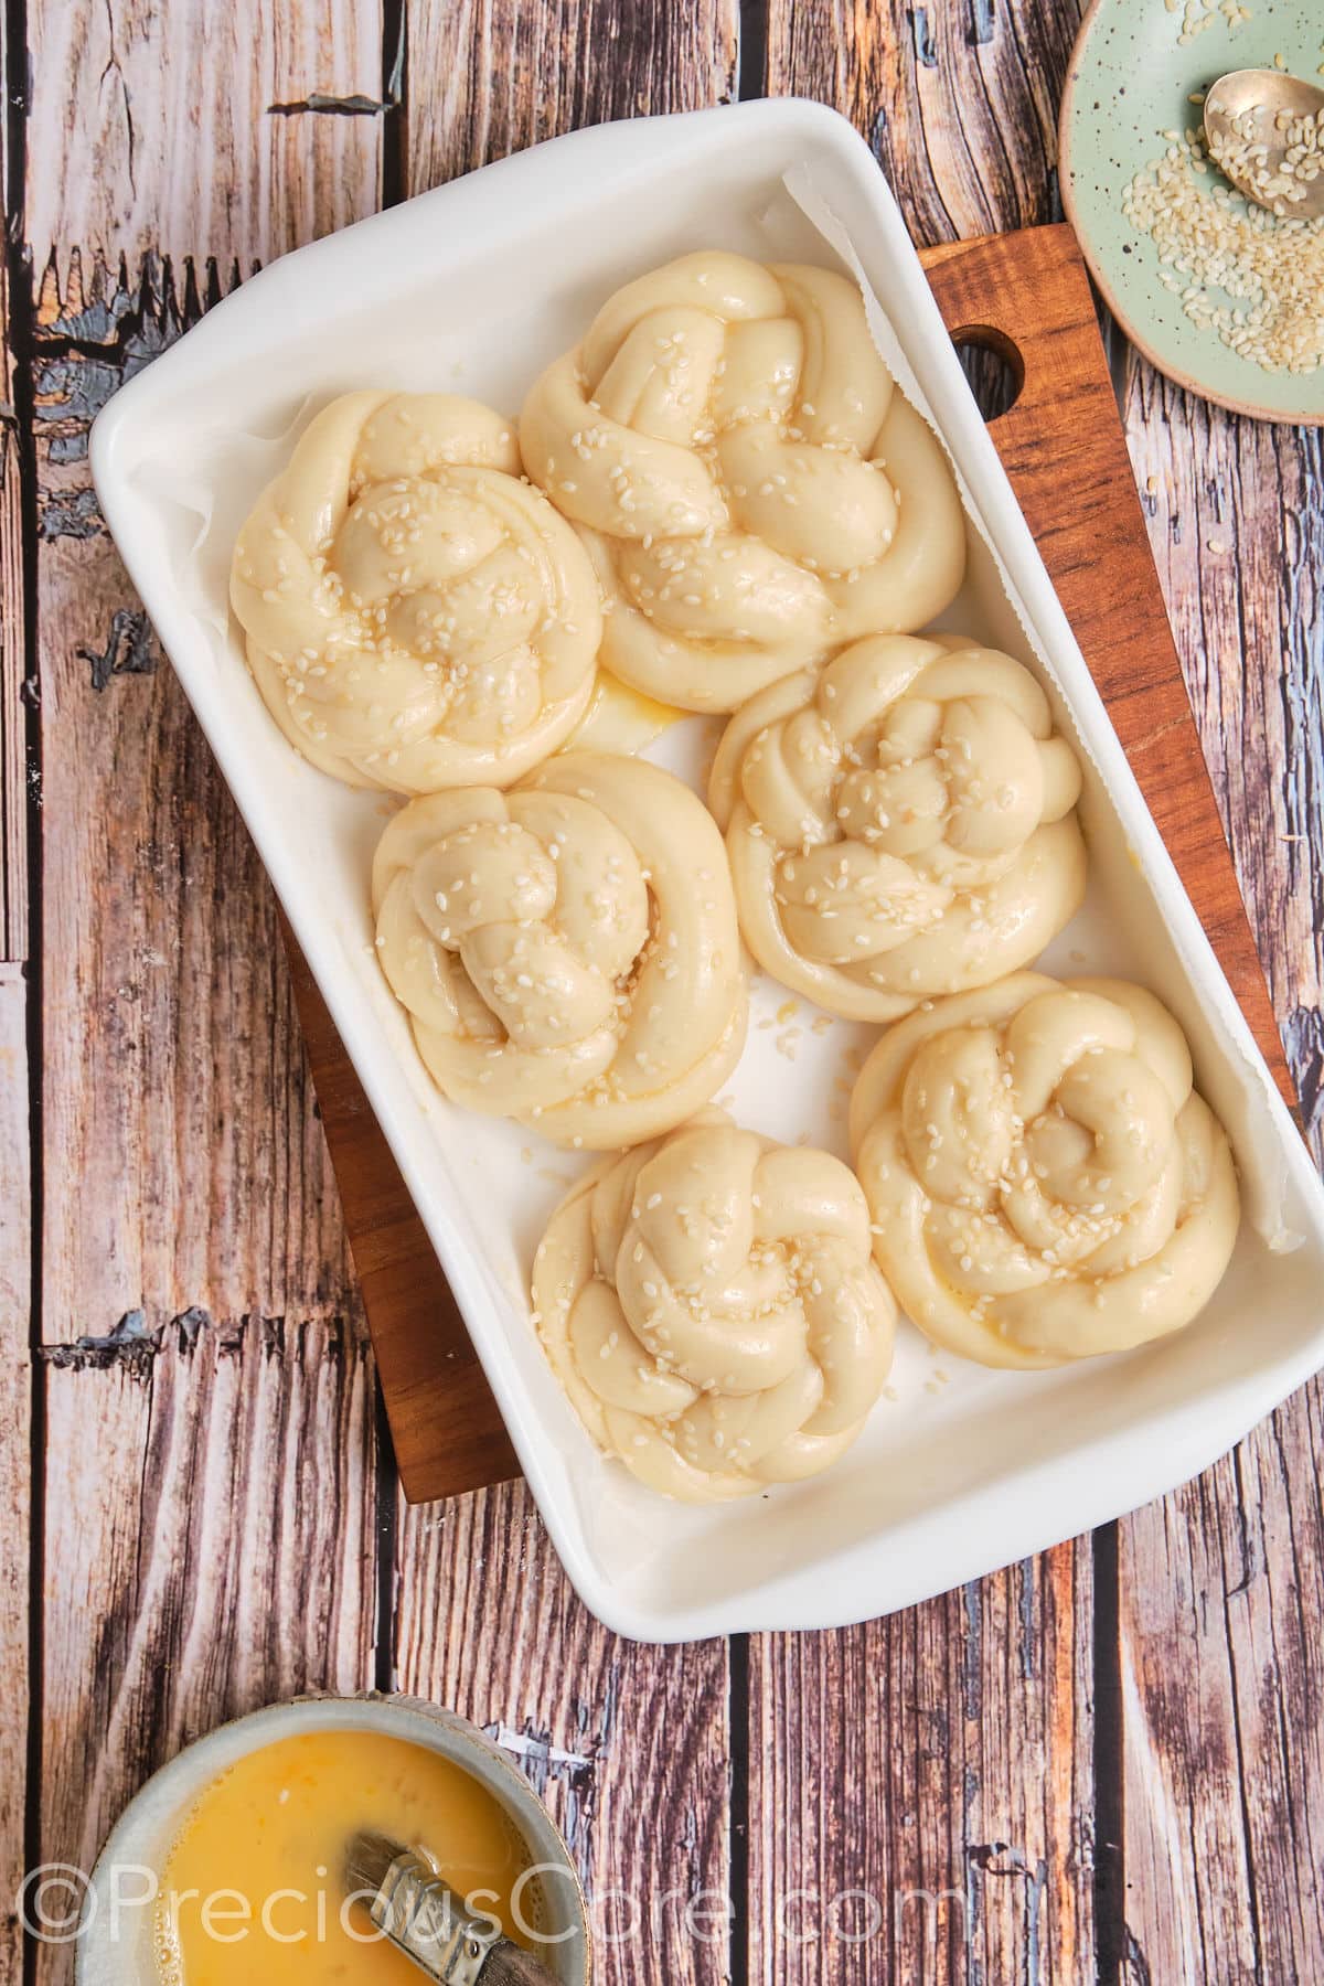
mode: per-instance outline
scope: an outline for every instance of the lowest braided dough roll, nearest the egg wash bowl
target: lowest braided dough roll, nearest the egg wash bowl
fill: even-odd
[[[840,1160],[707,1110],[552,1215],[534,1319],[584,1426],[687,1503],[816,1476],[860,1434],[895,1303]]]

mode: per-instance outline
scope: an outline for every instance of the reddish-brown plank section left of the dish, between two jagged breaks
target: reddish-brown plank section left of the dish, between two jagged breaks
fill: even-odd
[[[44,1337],[353,1315],[272,894],[105,536],[44,546],[38,612]]]

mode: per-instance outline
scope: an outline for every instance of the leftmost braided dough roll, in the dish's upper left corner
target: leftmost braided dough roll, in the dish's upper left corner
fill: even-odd
[[[584,546],[472,399],[331,401],[248,516],[230,602],[272,717],[351,786],[508,786],[594,693]]]

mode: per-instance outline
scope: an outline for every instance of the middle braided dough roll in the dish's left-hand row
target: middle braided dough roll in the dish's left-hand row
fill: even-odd
[[[669,1130],[744,1047],[723,838],[639,759],[413,800],[373,862],[377,955],[457,1102],[596,1150]]]

